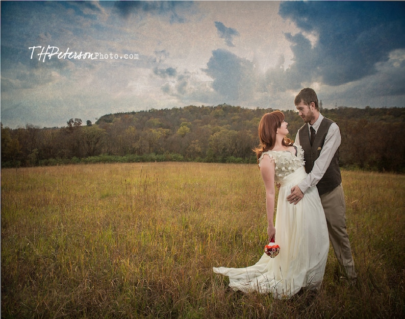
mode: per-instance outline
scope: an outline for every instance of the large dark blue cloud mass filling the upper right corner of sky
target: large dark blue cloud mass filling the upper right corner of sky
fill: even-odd
[[[295,63],[291,73],[320,77],[341,85],[376,73],[376,63],[405,47],[403,2],[283,2],[280,15],[304,33],[315,34],[314,46],[301,34],[286,34]]]

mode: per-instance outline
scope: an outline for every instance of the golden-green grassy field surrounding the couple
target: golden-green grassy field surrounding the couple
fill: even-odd
[[[356,285],[331,248],[322,289],[291,300],[227,287],[266,244],[257,165],[2,169],[2,318],[401,318],[405,176],[343,171]]]

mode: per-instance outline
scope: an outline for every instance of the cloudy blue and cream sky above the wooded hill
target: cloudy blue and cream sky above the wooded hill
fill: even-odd
[[[405,107],[405,2],[1,2],[4,127],[188,105]]]

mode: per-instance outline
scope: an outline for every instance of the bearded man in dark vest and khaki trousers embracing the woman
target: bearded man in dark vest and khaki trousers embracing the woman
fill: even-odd
[[[339,168],[339,127],[319,113],[318,97],[313,89],[302,89],[295,97],[294,104],[305,122],[298,130],[295,143],[301,145],[304,151],[308,176],[291,188],[287,200],[297,204],[309,187],[317,186],[335,255],[344,268],[346,278],[356,279],[346,230],[346,204]]]

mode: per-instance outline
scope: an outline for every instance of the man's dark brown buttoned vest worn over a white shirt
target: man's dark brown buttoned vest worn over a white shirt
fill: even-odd
[[[299,130],[299,143],[304,151],[305,160],[305,170],[309,174],[314,167],[315,160],[319,157],[321,150],[323,148],[323,143],[325,142],[325,137],[329,127],[333,123],[332,120],[324,117],[322,119],[321,125],[319,126],[318,132],[316,132],[314,144],[311,146],[309,138],[309,126],[306,123]],[[316,187],[318,188],[319,195],[322,195],[328,191],[333,190],[342,182],[342,177],[340,175],[339,168],[339,148],[336,151],[334,157],[332,158],[331,164],[326,169],[325,174],[322,179],[318,182]]]

